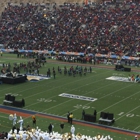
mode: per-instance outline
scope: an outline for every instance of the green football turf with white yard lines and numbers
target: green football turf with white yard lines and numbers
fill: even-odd
[[[17,59],[14,54],[3,54],[0,58],[0,64],[3,63],[20,63],[33,61],[32,59]],[[45,114],[52,114],[56,116],[65,117],[67,112],[70,111],[74,114],[75,120],[81,120],[82,110],[84,109],[87,114],[93,114],[94,110],[97,110],[98,123],[100,113],[109,112],[114,113],[115,123],[111,127],[130,130],[134,132],[140,132],[140,84],[133,82],[122,82],[117,80],[108,80],[111,76],[128,77],[128,75],[139,74],[139,72],[122,72],[110,69],[115,66],[108,66],[106,68],[100,68],[104,65],[92,65],[92,73],[87,73],[86,76],[76,75],[68,76],[59,74],[57,72],[58,66],[64,70],[64,66],[70,68],[81,64],[61,63],[56,60],[47,60],[48,62],[40,69],[40,74],[46,75],[47,69],[54,67],[56,70],[56,79],[51,77],[48,80],[41,80],[38,82],[25,82],[21,84],[1,84],[0,85],[0,103],[3,104],[5,94],[11,93],[16,96],[16,99],[25,99],[26,110],[32,110],[42,112]],[[89,68],[89,64],[84,64]],[[82,66],[83,68],[85,66]],[[0,66],[2,69],[2,66]],[[132,68],[137,69],[139,68]],[[24,73],[24,71],[22,71]],[[91,100],[76,99],[74,96],[62,97],[62,93],[84,96]],[[64,94],[63,94],[64,95]],[[94,99],[96,99],[94,101]],[[0,131],[9,131],[12,126],[12,122],[8,119],[8,114],[0,113]],[[37,125],[46,130],[50,122],[54,123],[54,131],[59,131],[58,120],[46,119],[42,117],[37,118]],[[31,124],[31,117],[27,117],[24,120],[24,124]],[[111,135],[114,140],[131,140],[133,136],[125,134],[111,132],[109,130],[91,128],[84,125],[76,126],[76,132],[80,132],[85,135],[95,136],[97,134]],[[65,124],[64,132],[70,131],[70,125]]]

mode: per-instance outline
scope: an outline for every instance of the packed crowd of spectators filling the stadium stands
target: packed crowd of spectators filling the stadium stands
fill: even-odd
[[[0,20],[6,48],[137,56],[139,3],[10,4]]]

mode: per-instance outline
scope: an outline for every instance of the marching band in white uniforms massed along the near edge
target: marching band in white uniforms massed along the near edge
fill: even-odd
[[[80,133],[77,133],[75,135],[74,125],[71,126],[70,133],[60,134],[54,131],[52,131],[51,133],[48,133],[47,131],[41,131],[41,129],[39,129],[38,127],[34,129],[28,126],[27,129],[24,129],[24,121],[22,117],[20,116],[19,120],[17,121],[16,114],[10,114],[9,120],[13,122],[13,128],[10,130],[10,132],[8,133],[7,137],[4,138],[4,140],[113,140],[113,138],[111,138],[110,135],[97,135],[95,137],[82,135]],[[34,115],[32,116],[32,121],[33,126],[36,125],[36,117]],[[16,124],[19,124],[19,129],[15,127]]]

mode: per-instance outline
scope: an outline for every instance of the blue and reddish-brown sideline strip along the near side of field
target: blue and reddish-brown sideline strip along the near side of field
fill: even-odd
[[[31,115],[36,115],[36,116],[42,117],[42,118],[48,118],[48,119],[52,119],[52,120],[67,122],[67,119],[64,117],[50,115],[50,114],[44,114],[41,112],[29,111],[29,110],[21,109],[21,108],[0,105],[0,112],[2,112],[2,113],[14,114],[15,111],[16,111],[16,113],[20,114],[21,116],[23,115],[22,117],[28,118]],[[129,135],[129,136],[137,135],[138,137],[140,137],[140,134],[138,132],[125,130],[125,129],[119,129],[119,128],[115,128],[112,126],[90,123],[90,122],[86,122],[86,121],[82,121],[82,120],[73,120],[73,123],[78,124],[78,125],[82,125],[82,126],[97,128],[100,130],[110,131],[110,132],[114,132],[114,133],[119,133],[119,134],[124,134],[124,135]]]

